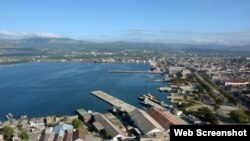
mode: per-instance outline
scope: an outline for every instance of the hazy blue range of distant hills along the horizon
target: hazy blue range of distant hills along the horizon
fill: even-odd
[[[149,42],[90,42],[84,40],[73,40],[69,38],[26,38],[26,39],[0,39],[1,49],[70,49],[70,50],[151,50],[164,51],[170,53],[200,53],[200,54],[234,54],[249,55],[250,45],[228,46],[218,44],[168,44],[168,43],[149,43]]]

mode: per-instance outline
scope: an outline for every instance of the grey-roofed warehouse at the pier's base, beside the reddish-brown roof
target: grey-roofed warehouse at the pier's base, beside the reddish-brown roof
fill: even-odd
[[[150,117],[145,111],[135,109],[129,113],[129,116],[136,127],[145,134],[154,134],[163,132],[164,129],[159,125],[152,117]]]

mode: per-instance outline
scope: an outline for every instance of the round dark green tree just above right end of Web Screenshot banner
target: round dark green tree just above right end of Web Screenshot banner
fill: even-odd
[[[240,123],[248,121],[248,115],[243,110],[235,110],[235,111],[230,112],[230,117],[234,121],[240,122]]]

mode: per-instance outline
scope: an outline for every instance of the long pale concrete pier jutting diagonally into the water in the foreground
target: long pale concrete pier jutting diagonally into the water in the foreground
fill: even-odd
[[[136,109],[136,107],[118,99],[118,98],[115,98],[103,91],[92,91],[91,94],[93,94],[94,96],[102,99],[103,101],[115,106],[115,107],[119,107],[119,108],[122,108],[124,109],[126,112],[132,112],[133,110]]]

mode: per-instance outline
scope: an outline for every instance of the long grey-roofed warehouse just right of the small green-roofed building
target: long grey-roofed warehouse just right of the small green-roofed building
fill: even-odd
[[[126,138],[126,134],[115,126],[110,120],[108,120],[103,114],[94,114],[95,123],[93,124],[95,128],[102,132],[109,133],[114,141]]]

